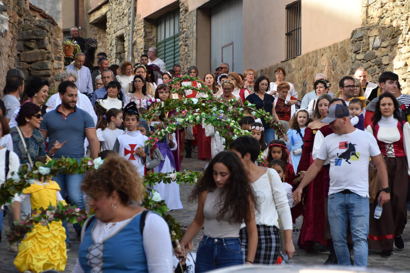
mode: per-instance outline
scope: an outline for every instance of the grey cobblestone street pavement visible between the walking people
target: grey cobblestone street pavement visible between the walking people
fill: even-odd
[[[198,160],[198,153],[192,153],[192,158],[184,158],[182,160],[182,170],[194,170],[203,171],[205,167],[205,161]],[[175,219],[180,223],[181,227],[187,227],[194,220],[196,214],[196,203],[188,202],[189,195],[191,194],[194,186],[190,185],[180,185],[180,196],[183,205],[182,210],[173,210],[169,212]],[[86,204],[87,209],[89,209],[88,202]],[[408,217],[409,219],[409,217]],[[7,219],[3,221],[3,232],[2,241],[0,242],[0,273],[18,273],[19,271],[14,267],[13,261],[17,253],[9,252],[9,245],[6,242],[5,231],[8,229]],[[300,233],[300,228],[302,226],[303,218],[299,217],[296,219],[294,224],[293,232],[293,243],[295,245],[296,251],[293,258],[290,260],[292,264],[297,265],[322,265],[328,258],[329,252],[319,252],[307,253],[301,248],[298,248],[297,241]],[[199,237],[203,235],[203,230],[194,239],[194,252],[198,247]],[[406,226],[403,232],[403,241],[405,248],[399,250],[394,248],[394,253],[389,258],[380,257],[380,252],[369,251],[368,266],[371,268],[380,268],[389,271],[404,270],[410,271],[410,227]],[[76,238],[73,226],[69,224],[69,237],[71,240],[71,250],[67,253],[67,265],[64,272],[71,272],[75,265],[77,259],[77,252],[80,242]],[[353,257],[353,251],[352,251]]]

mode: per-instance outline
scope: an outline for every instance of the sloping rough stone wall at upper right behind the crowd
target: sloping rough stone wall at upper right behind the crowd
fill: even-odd
[[[351,38],[308,52],[294,59],[259,70],[275,81],[275,68],[286,70],[286,81],[294,84],[300,95],[313,90],[313,77],[327,74],[336,92],[339,79],[353,76],[364,67],[369,81],[378,83],[385,71],[399,75],[402,93],[410,94],[410,1],[362,0],[362,27],[353,30]]]

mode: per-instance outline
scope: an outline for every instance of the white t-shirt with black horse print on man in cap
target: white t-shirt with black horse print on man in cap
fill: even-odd
[[[369,160],[379,154],[376,139],[369,132],[356,129],[344,135],[326,136],[317,158],[330,162],[328,195],[351,190],[369,197]]]

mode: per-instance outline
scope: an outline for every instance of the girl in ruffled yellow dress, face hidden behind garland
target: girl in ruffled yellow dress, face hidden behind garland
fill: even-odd
[[[46,157],[41,156],[36,161],[46,163]],[[43,162],[44,161],[44,162]],[[50,180],[47,177],[41,178],[41,181],[36,180],[34,184],[23,190],[21,196],[15,199],[17,218],[20,215],[20,202],[30,197],[32,212],[41,207],[57,206],[59,201],[65,204],[59,191],[60,187],[57,182]],[[52,217],[52,216],[51,216]],[[16,219],[16,218],[14,218]],[[27,233],[26,237],[18,246],[18,255],[14,259],[16,268],[24,273],[39,273],[48,269],[64,271],[66,267],[66,232],[61,221],[52,221],[47,226],[42,226],[41,223],[34,224],[31,232]]]

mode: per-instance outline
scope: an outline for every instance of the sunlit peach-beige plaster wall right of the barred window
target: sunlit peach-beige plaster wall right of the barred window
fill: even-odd
[[[350,38],[361,26],[360,0],[303,0],[302,54]]]

